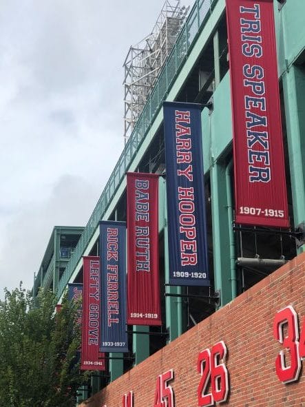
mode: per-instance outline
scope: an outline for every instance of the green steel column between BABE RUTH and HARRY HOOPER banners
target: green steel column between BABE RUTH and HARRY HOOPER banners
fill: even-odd
[[[159,229],[164,229],[165,283],[169,282],[169,244],[167,231],[166,182],[159,180]],[[165,286],[165,293],[181,294],[180,286]],[[182,298],[165,298],[166,326],[169,331],[169,342],[182,334]]]

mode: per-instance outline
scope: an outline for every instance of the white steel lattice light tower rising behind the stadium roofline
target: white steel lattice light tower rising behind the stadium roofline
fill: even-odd
[[[176,43],[188,10],[189,8],[180,5],[180,0],[166,0],[151,34],[129,48],[123,65],[125,143]]]

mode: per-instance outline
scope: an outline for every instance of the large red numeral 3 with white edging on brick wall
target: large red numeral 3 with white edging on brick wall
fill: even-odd
[[[284,336],[284,330],[286,336]],[[297,313],[291,305],[286,306],[275,315],[273,336],[284,348],[275,359],[277,377],[283,383],[295,382],[299,378],[301,359],[299,355]],[[302,337],[304,336],[302,335]],[[304,349],[302,349],[302,352],[304,352]]]

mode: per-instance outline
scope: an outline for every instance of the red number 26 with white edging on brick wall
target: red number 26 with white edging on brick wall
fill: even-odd
[[[215,403],[226,401],[229,394],[229,378],[224,362],[227,346],[223,341],[215,344],[211,351],[204,349],[198,355],[197,370],[201,375],[198,386],[198,406],[214,406]],[[206,393],[211,381],[211,393]]]

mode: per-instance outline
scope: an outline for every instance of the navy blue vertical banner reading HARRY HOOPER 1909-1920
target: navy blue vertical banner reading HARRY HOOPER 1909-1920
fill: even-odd
[[[163,103],[169,284],[208,286],[201,105]]]

